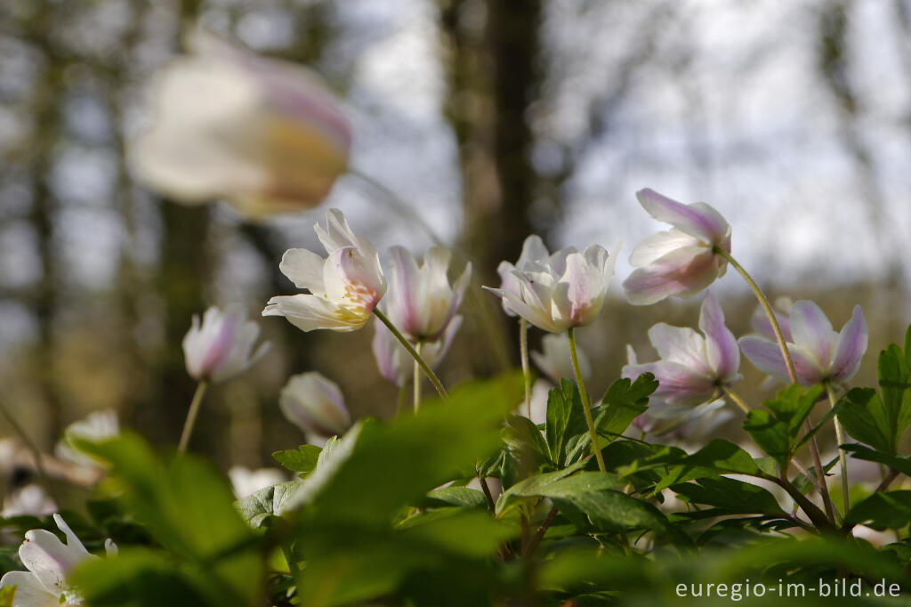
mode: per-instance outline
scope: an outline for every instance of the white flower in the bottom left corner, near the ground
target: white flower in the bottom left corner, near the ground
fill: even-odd
[[[15,586],[13,607],[82,604],[82,598],[67,584],[67,575],[82,561],[97,556],[86,550],[59,514],[54,515],[54,520],[67,536],[67,543],[47,530],[26,531],[26,540],[19,546],[19,560],[28,571],[9,571],[0,580],[0,588]],[[113,541],[107,540],[105,548],[108,556],[117,554]]]

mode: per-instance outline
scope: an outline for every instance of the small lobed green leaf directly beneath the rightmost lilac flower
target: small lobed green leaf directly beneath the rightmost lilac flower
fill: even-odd
[[[785,467],[797,448],[804,420],[822,394],[823,386],[787,386],[763,403],[764,410],[750,411],[743,429],[779,466]]]

